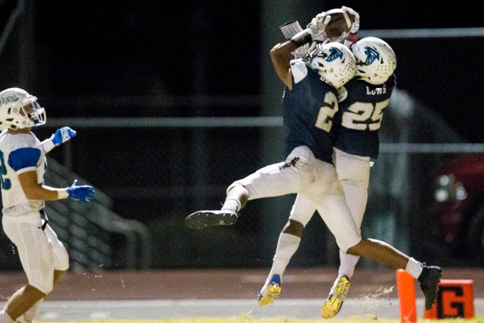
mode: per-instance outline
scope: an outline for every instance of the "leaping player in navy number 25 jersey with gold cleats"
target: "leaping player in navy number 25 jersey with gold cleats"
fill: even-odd
[[[378,129],[383,110],[396,84],[393,71],[397,62],[392,48],[380,39],[368,37],[354,44],[358,39],[359,14],[345,6],[342,10],[354,15],[355,22],[350,33],[343,33],[338,41],[344,40],[345,45],[351,46],[358,71],[355,78],[338,92],[339,111],[334,116],[331,133],[336,136],[334,164],[339,183],[358,231],[361,232],[367,201],[370,157],[376,159],[378,156]],[[297,21],[286,23],[280,28],[286,39],[302,30]],[[310,52],[310,46],[305,45],[292,54],[310,59]],[[311,201],[301,194],[297,195],[289,221],[280,234],[271,272],[260,292],[260,306],[271,304],[279,295],[282,274],[299,246],[303,228],[315,210]],[[340,250],[338,277],[323,304],[323,318],[331,318],[339,312],[359,258]]]

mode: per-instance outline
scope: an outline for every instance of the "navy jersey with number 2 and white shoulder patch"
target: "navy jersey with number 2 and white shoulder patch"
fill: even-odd
[[[302,59],[291,60],[290,66],[292,90],[286,88],[282,99],[285,156],[306,145],[316,158],[332,163],[335,137],[330,130],[338,111],[337,91]]]

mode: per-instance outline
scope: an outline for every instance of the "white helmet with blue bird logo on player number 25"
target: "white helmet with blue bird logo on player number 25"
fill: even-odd
[[[351,46],[357,75],[370,84],[385,83],[397,68],[392,47],[376,37],[365,37]]]

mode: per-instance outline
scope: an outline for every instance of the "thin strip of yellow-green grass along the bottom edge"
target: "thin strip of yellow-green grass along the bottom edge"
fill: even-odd
[[[38,323],[60,323],[59,321],[37,321]],[[166,319],[166,320],[87,320],[87,321],[68,321],[63,323],[400,323],[400,319],[378,319],[378,318],[361,318],[353,317],[346,319],[314,319],[314,320],[297,320],[289,318],[271,318],[271,319],[253,319],[249,316],[236,318],[189,318],[189,319]],[[446,319],[446,320],[423,320],[419,319],[418,323],[484,323],[484,317],[479,316],[472,320],[464,319]]]

